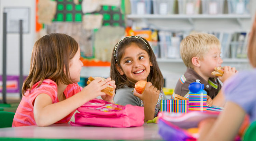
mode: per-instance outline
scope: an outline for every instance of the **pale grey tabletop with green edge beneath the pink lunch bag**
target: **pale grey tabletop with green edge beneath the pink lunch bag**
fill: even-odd
[[[0,140],[162,140],[157,124],[144,123],[140,127],[114,128],[71,126],[69,123],[47,127],[22,126],[0,128]]]

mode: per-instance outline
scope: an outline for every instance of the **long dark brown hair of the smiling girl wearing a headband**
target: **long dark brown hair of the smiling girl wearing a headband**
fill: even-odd
[[[124,86],[134,88],[135,83],[129,81],[125,75],[120,75],[115,65],[117,64],[120,66],[120,59],[122,58],[125,49],[132,43],[136,43],[139,48],[148,53],[152,67],[150,67],[150,74],[147,76],[147,81],[151,82],[158,90],[161,90],[163,87],[163,76],[158,67],[156,56],[148,41],[139,36],[124,38],[116,44],[116,50],[115,48],[113,49],[110,65],[110,77],[116,82],[116,90]]]

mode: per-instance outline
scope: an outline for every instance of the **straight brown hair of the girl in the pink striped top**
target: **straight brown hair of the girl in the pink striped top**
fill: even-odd
[[[45,79],[51,79],[56,84],[73,83],[69,75],[69,61],[77,50],[77,42],[66,34],[48,34],[36,41],[32,50],[29,75],[23,83],[22,94],[24,95],[27,90],[30,92],[32,86],[40,81],[37,86],[39,87]]]

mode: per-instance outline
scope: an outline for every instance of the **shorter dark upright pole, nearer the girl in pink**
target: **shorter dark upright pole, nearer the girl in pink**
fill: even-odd
[[[22,98],[22,85],[23,85],[23,39],[22,39],[22,20],[19,20],[19,94]]]

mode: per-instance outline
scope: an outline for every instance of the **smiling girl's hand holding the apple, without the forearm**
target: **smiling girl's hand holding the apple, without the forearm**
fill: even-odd
[[[154,87],[151,82],[147,82],[144,92],[142,94],[138,93],[136,91],[136,89],[134,88],[133,95],[140,98],[144,104],[145,103],[151,104],[151,105],[154,105],[154,107],[155,107],[156,103],[158,101],[159,93],[160,93],[160,91],[157,90],[157,88]]]

